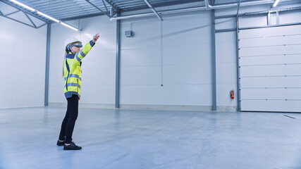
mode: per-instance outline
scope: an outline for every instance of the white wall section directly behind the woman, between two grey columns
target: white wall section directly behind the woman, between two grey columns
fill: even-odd
[[[113,104],[115,101],[115,64],[116,64],[116,21],[106,16],[70,20],[70,25],[79,25],[82,32],[76,32],[54,23],[51,25],[49,102],[66,103],[61,76],[64,57],[64,42],[70,37],[78,38],[82,44],[92,40],[99,33],[97,44],[82,59],[81,103]],[[87,91],[86,91],[87,90]]]

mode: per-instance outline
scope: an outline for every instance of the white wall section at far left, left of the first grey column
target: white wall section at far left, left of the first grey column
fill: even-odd
[[[0,17],[0,108],[44,106],[47,26],[35,29]]]

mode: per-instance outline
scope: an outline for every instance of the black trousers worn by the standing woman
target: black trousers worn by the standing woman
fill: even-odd
[[[65,118],[63,118],[63,123],[61,123],[59,139],[65,140],[66,144],[70,144],[75,121],[78,118],[78,95],[73,94],[67,101],[67,112]]]

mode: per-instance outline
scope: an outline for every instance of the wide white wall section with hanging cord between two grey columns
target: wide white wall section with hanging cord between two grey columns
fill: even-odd
[[[210,23],[208,11],[122,20],[121,104],[211,106]]]

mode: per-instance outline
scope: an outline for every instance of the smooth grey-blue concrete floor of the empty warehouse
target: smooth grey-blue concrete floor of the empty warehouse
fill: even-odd
[[[73,139],[82,150],[63,151],[65,112],[0,109],[0,168],[301,168],[299,113],[80,108]]]

